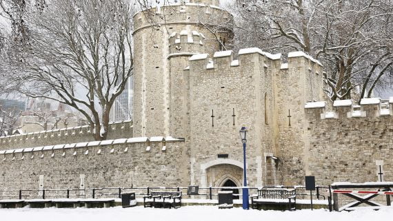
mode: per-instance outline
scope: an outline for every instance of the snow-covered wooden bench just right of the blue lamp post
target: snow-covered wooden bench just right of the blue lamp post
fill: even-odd
[[[258,194],[251,196],[252,209],[259,205],[285,205],[287,209],[296,210],[296,189],[259,189]]]

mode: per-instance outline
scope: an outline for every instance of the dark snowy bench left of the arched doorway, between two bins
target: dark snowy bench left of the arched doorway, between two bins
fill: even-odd
[[[181,207],[181,191],[151,192],[143,196],[143,207],[179,208]]]

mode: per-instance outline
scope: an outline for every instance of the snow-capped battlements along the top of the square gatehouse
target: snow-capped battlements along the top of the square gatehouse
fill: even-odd
[[[239,59],[236,60],[234,60],[234,53],[232,51],[216,52],[214,53],[213,59],[210,59],[208,54],[195,54],[190,58],[190,67],[206,70],[220,69],[222,67],[241,67],[244,64],[248,64],[248,61],[253,56],[260,58],[259,61],[263,62],[263,67],[278,68],[283,71],[304,67],[306,70],[319,74],[322,72],[323,67],[319,61],[304,52],[290,52],[288,54],[288,63],[283,63],[281,54],[270,54],[263,52],[259,48],[239,50]],[[274,65],[274,63],[277,65]]]

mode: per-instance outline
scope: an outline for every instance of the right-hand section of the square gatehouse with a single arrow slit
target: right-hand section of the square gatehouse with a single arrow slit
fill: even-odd
[[[283,185],[299,185],[308,173],[304,105],[323,98],[322,66],[303,52],[292,52],[288,63],[279,68],[275,99],[278,180]]]

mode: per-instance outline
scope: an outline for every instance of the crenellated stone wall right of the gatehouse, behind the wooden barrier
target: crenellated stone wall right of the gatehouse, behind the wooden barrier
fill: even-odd
[[[308,105],[308,167],[316,182],[377,182],[377,165],[385,181],[393,180],[393,105],[381,109],[378,98],[335,101],[333,112],[323,103]],[[379,171],[379,170],[378,170]]]

